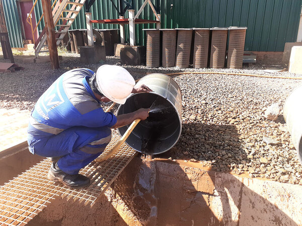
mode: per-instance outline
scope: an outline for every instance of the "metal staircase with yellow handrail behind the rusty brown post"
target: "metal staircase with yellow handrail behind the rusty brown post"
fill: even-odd
[[[42,51],[42,48],[47,47],[47,45],[44,44],[47,39],[47,35],[46,35],[46,28],[44,27],[44,29],[42,30],[38,39],[35,40],[35,38],[34,38],[34,33],[36,32],[36,29],[43,18],[43,14],[42,14],[36,27],[33,29],[32,21],[31,21],[31,13],[34,10],[37,1],[38,0],[36,0],[33,5],[33,8],[27,18],[27,22],[29,24],[31,24],[31,27],[32,27],[33,40],[34,40],[34,44],[35,44],[35,55],[38,58],[39,53],[45,52],[45,51]],[[61,43],[61,40],[64,38],[64,36],[68,32],[68,29],[70,28],[72,22],[78,16],[85,1],[86,0],[73,0],[73,1],[72,0],[58,0],[52,4],[53,22],[54,22],[55,30],[57,30],[57,31],[55,31],[57,46]],[[67,7],[67,6],[69,6],[69,7]],[[66,9],[66,8],[70,8],[70,9]]]

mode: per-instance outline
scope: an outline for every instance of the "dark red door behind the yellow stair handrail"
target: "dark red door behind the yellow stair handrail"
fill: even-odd
[[[33,40],[32,30],[29,23],[27,23],[26,19],[28,14],[30,13],[31,9],[33,7],[33,1],[29,2],[20,2],[20,8],[21,8],[21,14],[22,14],[22,22],[24,26],[24,35],[25,39],[27,40]],[[33,23],[33,29],[36,27],[36,18],[35,18],[35,12],[32,12],[32,23]],[[38,31],[34,34],[35,40],[38,38]]]

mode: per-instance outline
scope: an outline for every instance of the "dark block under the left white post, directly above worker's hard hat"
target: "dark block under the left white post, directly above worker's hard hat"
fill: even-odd
[[[106,61],[105,46],[81,46],[80,59],[82,63],[96,64],[100,61]]]

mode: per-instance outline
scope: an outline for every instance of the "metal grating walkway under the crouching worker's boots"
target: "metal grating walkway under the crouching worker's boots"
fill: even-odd
[[[112,140],[102,155],[112,149],[119,139],[120,137],[113,133]],[[88,176],[91,184],[79,189],[49,181],[47,173],[51,161],[43,160],[0,187],[0,224],[26,224],[58,196],[93,205],[135,154],[135,150],[123,144],[107,161],[90,163],[80,173]]]

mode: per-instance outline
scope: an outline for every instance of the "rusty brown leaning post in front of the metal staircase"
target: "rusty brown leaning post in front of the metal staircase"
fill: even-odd
[[[57,69],[60,68],[60,66],[59,66],[59,57],[58,57],[58,50],[56,46],[56,40],[55,40],[54,24],[53,24],[50,1],[42,0],[42,8],[44,14],[45,27],[47,28],[46,35],[47,35],[47,42],[48,42],[49,57],[52,64],[52,68]]]

